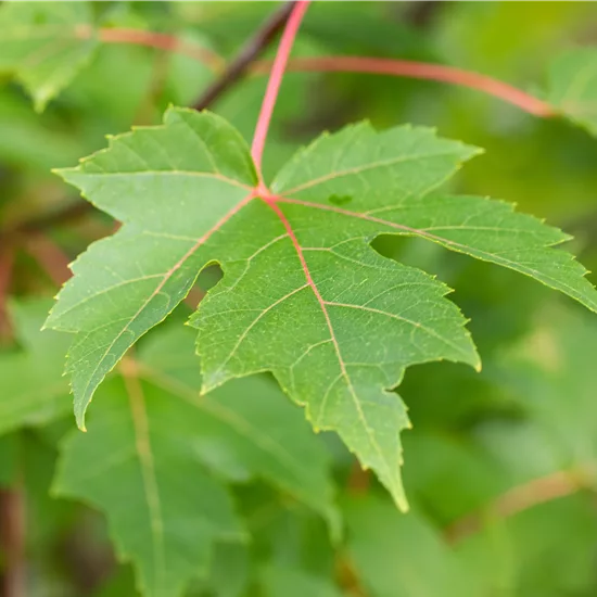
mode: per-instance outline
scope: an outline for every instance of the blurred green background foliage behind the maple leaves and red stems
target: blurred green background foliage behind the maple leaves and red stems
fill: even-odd
[[[276,4],[98,0],[93,8],[104,27],[176,35],[228,59]],[[596,43],[595,2],[318,0],[294,54],[440,62],[541,93],[550,58]],[[24,568],[27,586],[8,597],[137,594],[103,515],[62,497],[52,481],[64,436],[74,442],[79,432],[61,377],[67,339],[38,330],[48,297],[67,276],[64,264],[113,225],[78,213],[82,200],[50,170],[101,149],[106,135],[157,124],[169,103],[192,104],[213,78],[189,56],[102,45],[40,114],[21,86],[1,79],[0,274],[13,266],[9,292],[0,293],[10,295],[0,313],[0,566],[5,576]],[[265,84],[250,76],[211,110],[250,139]],[[574,234],[571,250],[597,268],[597,139],[469,89],[289,73],[266,174],[322,129],[361,118],[380,128],[434,126],[484,148],[462,169],[458,190],[515,202],[562,227]],[[65,206],[73,206],[73,217],[56,219],[42,234],[14,238],[23,221]],[[396,511],[334,436],[323,434],[317,441],[332,461],[342,538],[333,539],[316,509],[284,491],[263,480],[229,479],[250,539],[218,544],[208,569],[198,566],[188,597],[596,595],[597,320],[513,272],[435,246],[383,237],[376,247],[458,289],[453,297],[471,318],[483,358],[481,373],[447,363],[415,367],[399,388],[414,423],[404,434],[411,512]],[[189,313],[181,306],[166,328]],[[99,404],[90,425],[94,408]]]

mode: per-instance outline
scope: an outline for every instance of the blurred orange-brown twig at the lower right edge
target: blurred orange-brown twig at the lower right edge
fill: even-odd
[[[483,528],[484,519],[488,513],[499,519],[512,517],[539,504],[590,487],[589,479],[592,478],[593,474],[587,467],[586,470],[557,471],[546,477],[533,479],[497,497],[482,512],[474,512],[457,520],[445,530],[444,535],[450,543],[457,543],[479,532]]]

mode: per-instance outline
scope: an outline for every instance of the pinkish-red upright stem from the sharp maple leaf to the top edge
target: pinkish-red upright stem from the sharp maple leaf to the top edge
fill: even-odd
[[[278,99],[278,91],[280,90],[280,84],[282,82],[282,76],[287,67],[290,51],[292,50],[292,46],[294,43],[294,38],[296,37],[298,27],[301,26],[301,22],[307,12],[309,3],[310,0],[297,0],[296,4],[292,9],[292,13],[290,14],[287,26],[284,27],[282,38],[280,39],[280,45],[278,46],[278,52],[274,59],[269,80],[267,81],[267,89],[265,91],[262,110],[257,119],[257,126],[255,127],[255,136],[253,137],[253,145],[251,148],[251,155],[255,162],[259,176],[259,182],[262,185],[262,156],[264,153],[267,131],[269,129],[269,123],[271,122],[274,106],[276,105],[276,100]]]

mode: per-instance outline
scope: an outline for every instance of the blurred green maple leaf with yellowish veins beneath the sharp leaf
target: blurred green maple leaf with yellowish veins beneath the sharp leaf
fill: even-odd
[[[106,512],[143,595],[178,596],[205,573],[216,541],[244,531],[221,481],[262,477],[338,524],[330,462],[271,382],[200,396],[189,329],[165,330],[100,391],[89,433],[62,445],[54,490]]]

